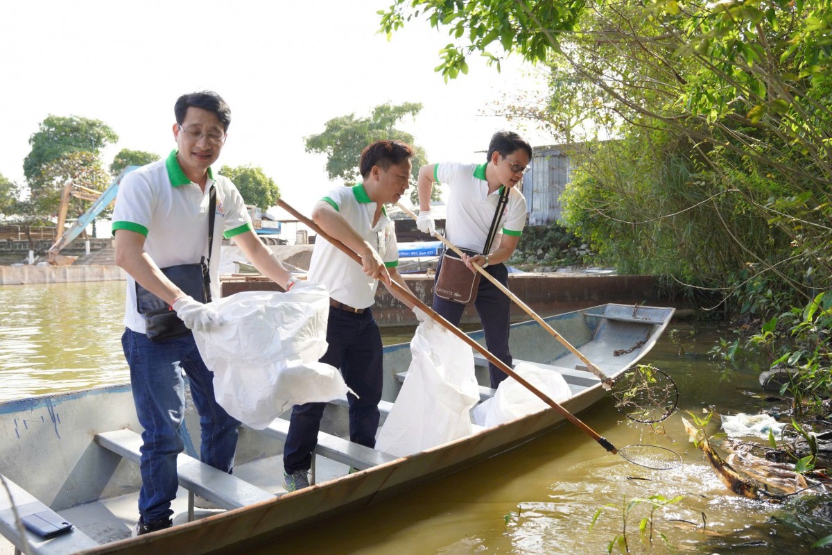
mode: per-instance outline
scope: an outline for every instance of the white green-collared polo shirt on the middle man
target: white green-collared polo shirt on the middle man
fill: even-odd
[[[396,245],[393,221],[382,207],[379,221],[373,225],[378,204],[370,201],[364,185],[340,186],[329,191],[322,200],[344,216],[349,226],[378,251],[386,267],[395,268],[399,265],[399,247]],[[334,300],[356,309],[372,306],[375,290],[379,286],[378,280],[364,274],[360,264],[323,237],[316,238],[314,242],[309,280],[324,285]]]

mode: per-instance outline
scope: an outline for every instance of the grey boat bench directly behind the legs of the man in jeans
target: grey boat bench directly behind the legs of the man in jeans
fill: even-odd
[[[103,448],[133,463],[141,458],[141,435],[130,429],[96,434],[95,441]],[[248,482],[225,473],[210,464],[202,463],[196,458],[179,453],[176,457],[176,474],[179,484],[186,488],[188,495],[188,516],[193,516],[193,496],[199,495],[214,503],[219,508],[232,509],[245,507],[260,501],[275,498],[273,493],[260,489]]]

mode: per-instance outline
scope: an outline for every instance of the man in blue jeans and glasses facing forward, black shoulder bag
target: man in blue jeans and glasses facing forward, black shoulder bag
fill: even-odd
[[[222,236],[235,243],[263,275],[294,285],[289,271],[260,242],[245,202],[234,184],[211,171],[225,144],[231,112],[215,92],[186,94],[174,106],[176,150],[166,160],[142,166],[121,181],[112,215],[116,264],[127,272],[127,295],[121,344],[136,414],[144,428],[141,438],[139,522],[134,534],[171,526],[171,500],[176,498],[176,455],[184,445],[179,435],[185,416],[184,384],[200,414],[201,460],[231,472],[240,423],[217,404],[213,373],[196,349],[193,334],[151,340],[146,317],[136,308],[136,283],[159,297],[190,330],[221,325],[219,314],[185,294],[160,268],[209,259],[210,292],[220,297],[219,265]],[[215,193],[215,201],[211,201]],[[210,206],[215,205],[214,233],[208,248]]]

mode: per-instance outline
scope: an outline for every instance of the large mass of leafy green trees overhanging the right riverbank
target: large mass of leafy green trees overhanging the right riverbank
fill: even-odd
[[[514,113],[587,130],[567,216],[607,260],[777,313],[832,286],[829,2],[394,0],[382,30],[414,17],[453,36],[446,79],[475,53],[549,68]]]

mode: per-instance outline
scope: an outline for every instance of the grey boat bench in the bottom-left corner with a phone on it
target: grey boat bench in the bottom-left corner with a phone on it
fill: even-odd
[[[60,516],[38,501],[31,493],[18,486],[17,483],[12,482],[5,476],[2,478],[5,480],[9,492],[6,492],[6,489],[0,486],[0,533],[14,545],[15,555],[20,555],[24,550],[27,550],[25,553],[32,553],[32,555],[64,555],[65,553],[77,553],[85,549],[98,547],[98,543],[78,528],[72,528],[67,533],[49,539],[41,538],[28,530],[24,531],[24,535],[21,535],[17,528],[17,521],[14,517],[14,511],[12,511],[12,503],[8,498],[8,493],[12,494],[14,504],[17,507],[17,516],[20,518],[44,511],[53,513],[58,518]]]

